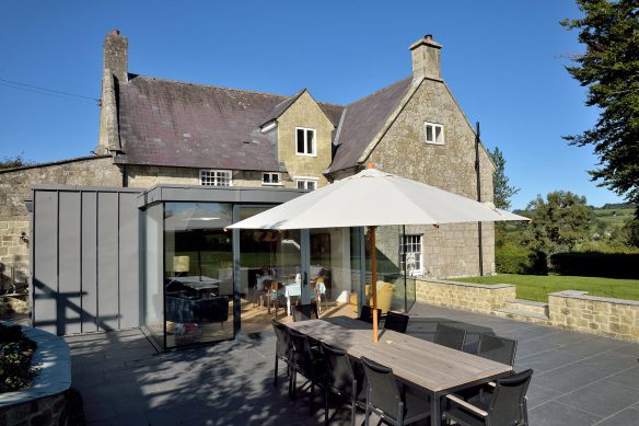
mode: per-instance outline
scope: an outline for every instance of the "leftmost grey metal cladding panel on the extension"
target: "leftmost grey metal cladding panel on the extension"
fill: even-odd
[[[34,194],[34,326],[56,333],[58,292],[58,193]]]

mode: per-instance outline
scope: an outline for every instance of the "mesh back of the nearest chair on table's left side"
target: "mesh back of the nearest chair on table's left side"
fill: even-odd
[[[367,405],[394,421],[399,418],[402,395],[393,369],[362,357],[368,382]]]

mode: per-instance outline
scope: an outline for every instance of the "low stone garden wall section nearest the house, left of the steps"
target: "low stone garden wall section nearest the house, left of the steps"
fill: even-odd
[[[435,279],[415,280],[417,301],[478,313],[492,313],[515,298],[515,286],[480,285]]]

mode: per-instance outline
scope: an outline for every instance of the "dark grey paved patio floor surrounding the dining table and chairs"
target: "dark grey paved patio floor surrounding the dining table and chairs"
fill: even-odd
[[[531,425],[639,424],[639,344],[416,303],[408,333],[431,339],[438,322],[519,341],[515,370],[533,368]],[[323,424],[307,398],[272,385],[275,335],[241,335],[214,346],[156,354],[138,330],[67,337],[72,385],[89,425]],[[283,375],[282,375],[283,378]],[[317,400],[320,401],[320,400]],[[333,415],[333,411],[332,411]],[[336,424],[348,424],[340,410]],[[363,419],[359,415],[358,421]],[[375,422],[376,423],[376,422]]]

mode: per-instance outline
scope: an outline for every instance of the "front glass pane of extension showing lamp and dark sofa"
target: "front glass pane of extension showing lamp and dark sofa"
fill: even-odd
[[[232,205],[166,203],[166,346],[233,337]]]

